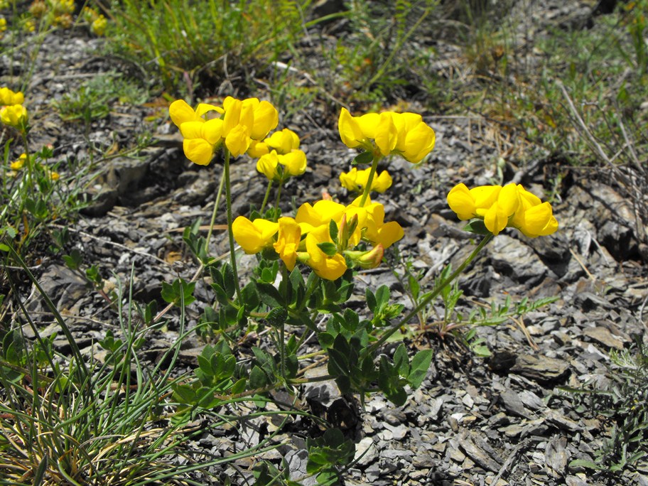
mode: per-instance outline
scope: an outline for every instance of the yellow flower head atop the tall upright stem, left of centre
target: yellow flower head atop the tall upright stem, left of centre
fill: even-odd
[[[279,123],[276,108],[257,98],[227,97],[222,107],[200,103],[196,109],[178,99],[171,103],[169,114],[184,137],[185,156],[201,166],[210,163],[223,143],[232,156],[238,157],[264,140]],[[218,117],[207,119],[211,114]]]

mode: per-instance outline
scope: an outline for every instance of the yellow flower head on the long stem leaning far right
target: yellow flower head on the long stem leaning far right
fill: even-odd
[[[558,229],[551,204],[541,202],[522,185],[480,185],[468,189],[465,184],[458,184],[448,193],[448,205],[460,220],[484,220],[486,229],[495,235],[505,227],[517,228],[531,238]]]

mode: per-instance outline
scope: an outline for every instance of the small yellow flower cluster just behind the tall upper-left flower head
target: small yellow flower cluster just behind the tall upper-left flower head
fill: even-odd
[[[299,149],[299,137],[289,129],[275,131],[264,141],[253,143],[249,156],[259,157],[257,171],[269,180],[286,180],[306,172],[306,153]]]

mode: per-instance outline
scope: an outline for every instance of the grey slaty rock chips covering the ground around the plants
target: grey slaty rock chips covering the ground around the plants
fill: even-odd
[[[94,121],[87,134],[80,123],[60,121],[49,103],[77,89],[83,80],[115,69],[132,75],[128,66],[92,54],[99,42],[72,31],[58,33],[43,45],[27,90],[34,143],[53,144],[65,175],[68,161],[87,160],[89,142],[121,148],[132,144],[136,135],[152,131],[153,146],[138,157],[99,161],[101,175],[90,188],[95,202],[69,227],[70,248],[80,249],[85,261],[97,264],[107,280],[131,284],[136,300],[146,302],[159,299],[162,281],[193,276],[197,267],[183,246],[181,230],[198,218],[204,224],[208,221],[220,166],[200,168],[186,161],[175,126],[153,105],[124,105],[114,99],[109,117]],[[397,220],[404,227],[401,254],[421,270],[425,287],[445,264],[459,264],[474,247],[472,235],[461,230],[446,205],[448,190],[459,182],[490,183],[499,151],[490,126],[480,117],[429,112],[423,117],[436,131],[436,148],[421,166],[389,161],[394,185],[380,199],[386,205],[386,220]],[[301,135],[309,169],[286,186],[286,212],[292,197],[299,204],[326,192],[348,200],[338,175],[348,170],[354,153],[340,143],[334,121],[318,107],[288,121],[288,127]],[[457,340],[435,333],[433,323],[443,316],[443,309],[433,309],[428,332],[409,342],[412,348],[436,350],[433,365],[421,389],[402,407],[376,395],[360,410],[340,396],[333,383],[305,387],[301,406],[337,423],[357,444],[360,459],[347,471],[347,484],[648,485],[645,461],[613,474],[570,465],[573,460],[595,460],[614,421],[604,413],[604,401],[583,401],[558,388],[592,383],[605,387],[610,381],[610,352],[624,350],[633,336],[644,335],[647,252],[637,208],[606,168],[574,168],[555,158],[538,158],[524,166],[509,161],[505,175],[537,195],[553,195],[560,230],[539,239],[517,232],[496,237],[462,277],[465,295],[459,307],[467,314],[475,306],[502,303],[507,296],[514,303],[525,297],[558,300],[528,313],[524,320],[479,328],[477,336],[492,353],[489,358],[476,357]],[[562,182],[554,188],[558,175]],[[242,157],[232,166],[232,181],[234,215],[244,215],[250,202],[262,200],[265,179],[253,161]],[[224,218],[222,214],[217,222],[224,223]],[[225,239],[222,232],[216,234],[212,254],[226,251]],[[244,256],[241,260],[244,268],[252,261]],[[44,257],[35,271],[50,298],[69,316],[82,348],[90,350],[108,329],[116,328],[104,299],[88,291],[57,257]],[[365,285],[387,284],[396,301],[411,306],[387,266],[360,272],[357,284],[360,291]],[[210,301],[200,284],[195,295],[190,325]],[[350,305],[357,306],[357,299]],[[36,293],[28,306],[34,315],[42,315],[40,324],[48,328]],[[146,345],[151,360],[177,338],[177,317],[169,316],[168,330],[152,334]],[[53,332],[55,327],[48,329]],[[57,343],[63,350],[65,340]],[[195,366],[201,346],[197,339],[188,342],[185,366]],[[646,406],[645,396],[643,400],[638,406]],[[201,450],[224,455],[254,445],[276,425],[261,418],[219,436],[205,434],[192,444],[198,451],[195,458],[200,458]],[[288,445],[264,458],[278,461],[284,455],[294,477],[303,475],[303,432],[308,426],[293,419],[277,436]],[[237,463],[237,473],[223,473],[241,477],[249,474],[248,466]]]

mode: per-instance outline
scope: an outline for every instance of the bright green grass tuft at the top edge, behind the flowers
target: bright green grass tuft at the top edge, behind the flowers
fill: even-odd
[[[263,70],[301,32],[310,1],[112,1],[112,48],[190,93],[232,72]],[[143,61],[143,62],[142,62]],[[185,77],[186,76],[186,77]],[[186,84],[185,84],[186,83]]]

